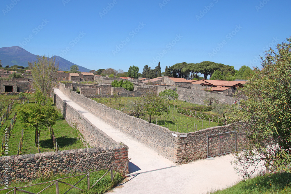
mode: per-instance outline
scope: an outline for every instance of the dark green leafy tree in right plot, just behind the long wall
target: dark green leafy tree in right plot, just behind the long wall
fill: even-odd
[[[152,115],[160,116],[168,112],[165,101],[152,90],[148,90],[141,96],[141,102],[143,102],[143,112],[149,115],[149,122],[152,120]]]

